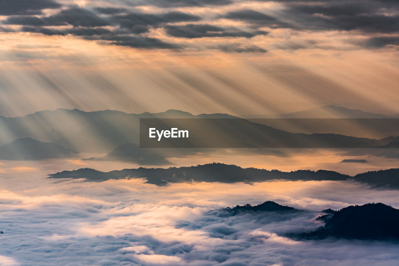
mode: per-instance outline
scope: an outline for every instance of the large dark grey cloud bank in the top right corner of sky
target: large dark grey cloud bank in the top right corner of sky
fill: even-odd
[[[229,12],[223,18],[244,21],[256,27],[389,33],[399,31],[399,16],[386,16],[383,13],[395,13],[395,10],[377,1],[368,1],[364,5],[343,1],[312,5],[288,2],[286,8],[277,14],[279,19],[249,9]]]

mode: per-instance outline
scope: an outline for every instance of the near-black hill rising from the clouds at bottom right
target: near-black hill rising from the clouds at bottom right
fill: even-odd
[[[304,238],[357,238],[399,240],[399,210],[383,203],[367,203],[343,208],[326,221],[324,227]]]

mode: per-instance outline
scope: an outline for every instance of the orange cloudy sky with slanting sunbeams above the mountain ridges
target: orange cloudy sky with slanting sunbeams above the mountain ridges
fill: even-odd
[[[0,115],[398,113],[393,0],[0,2]]]

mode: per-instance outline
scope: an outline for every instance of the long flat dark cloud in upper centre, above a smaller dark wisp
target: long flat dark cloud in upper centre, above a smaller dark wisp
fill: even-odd
[[[245,37],[252,38],[256,35],[266,35],[268,32],[244,32],[237,28],[221,28],[208,24],[194,25],[188,24],[185,26],[166,26],[166,32],[174,37],[183,38],[203,38],[203,37]]]

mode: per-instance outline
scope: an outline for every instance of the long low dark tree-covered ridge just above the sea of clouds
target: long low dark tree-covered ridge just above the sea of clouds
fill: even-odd
[[[104,181],[108,179],[123,179],[126,177],[147,179],[147,183],[166,185],[182,182],[221,182],[221,183],[253,183],[274,179],[285,180],[348,180],[354,179],[368,183],[374,187],[399,188],[399,168],[369,171],[355,176],[344,175],[336,171],[297,170],[283,172],[257,168],[241,168],[228,164],[203,164],[190,167],[169,168],[133,168],[102,172],[91,168],[81,168],[73,171],[62,171],[49,174],[49,178],[86,178],[89,181]]]

